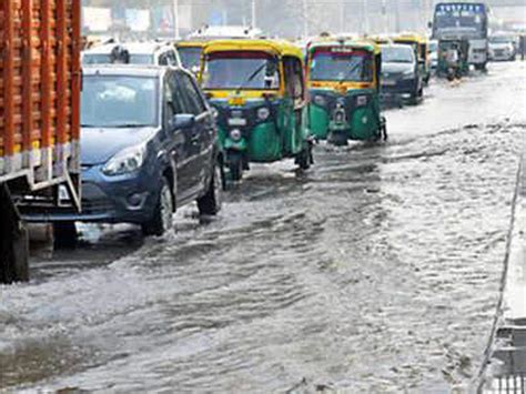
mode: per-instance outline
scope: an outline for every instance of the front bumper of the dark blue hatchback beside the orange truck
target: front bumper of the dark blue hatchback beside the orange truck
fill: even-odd
[[[64,202],[62,206],[39,210],[24,215],[28,222],[134,223],[148,221],[159,196],[158,176],[105,176],[100,169],[82,175],[82,211]]]

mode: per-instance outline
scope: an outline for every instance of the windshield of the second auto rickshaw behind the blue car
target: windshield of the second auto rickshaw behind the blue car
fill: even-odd
[[[362,50],[328,48],[316,50],[311,61],[313,81],[353,81],[373,80],[371,53]]]

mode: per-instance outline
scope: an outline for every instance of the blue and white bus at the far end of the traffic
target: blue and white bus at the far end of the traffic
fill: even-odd
[[[468,62],[485,70],[488,61],[488,8],[475,2],[441,2],[435,7],[433,40],[468,40]]]

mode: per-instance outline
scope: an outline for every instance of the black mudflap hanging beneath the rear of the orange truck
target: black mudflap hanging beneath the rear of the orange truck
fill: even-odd
[[[29,280],[29,234],[9,188],[0,183],[0,283]]]

